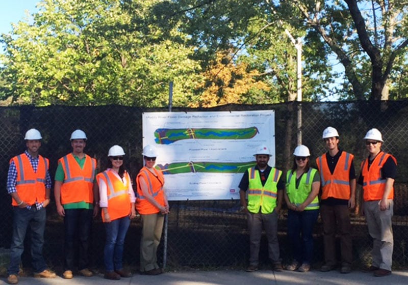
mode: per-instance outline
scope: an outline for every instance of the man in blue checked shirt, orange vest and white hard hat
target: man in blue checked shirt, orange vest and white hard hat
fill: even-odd
[[[55,278],[47,269],[42,248],[46,221],[45,207],[49,204],[51,178],[48,159],[39,154],[41,133],[30,129],[25,133],[25,150],[10,159],[7,176],[7,191],[12,197],[13,237],[10,246],[9,284],[18,283],[21,254],[27,228],[31,229],[31,257],[34,277]]]

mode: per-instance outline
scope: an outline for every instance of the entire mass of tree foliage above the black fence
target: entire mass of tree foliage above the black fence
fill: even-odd
[[[405,98],[407,5],[42,0],[33,21],[14,24],[0,38],[6,47],[0,54],[0,99],[38,106],[156,107],[167,105],[173,81],[174,106],[291,101],[296,98],[297,59],[285,31],[302,39],[304,101],[333,95],[345,100]],[[359,16],[362,21],[356,20]],[[228,60],[219,61],[220,54],[228,54]],[[338,63],[330,65],[333,59]],[[227,92],[208,83],[216,74]],[[259,86],[247,88],[243,82]]]

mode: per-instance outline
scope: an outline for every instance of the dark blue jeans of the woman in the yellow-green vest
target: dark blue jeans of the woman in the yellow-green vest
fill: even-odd
[[[293,259],[299,263],[311,264],[313,259],[313,226],[319,210],[303,212],[288,211],[288,238]]]

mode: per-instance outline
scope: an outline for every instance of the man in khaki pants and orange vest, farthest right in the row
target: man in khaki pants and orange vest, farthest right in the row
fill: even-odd
[[[364,140],[369,156],[361,163],[359,184],[363,186],[363,214],[373,238],[372,265],[368,271],[380,277],[391,274],[394,247],[391,219],[397,160],[381,151],[384,141],[377,129],[369,130]]]

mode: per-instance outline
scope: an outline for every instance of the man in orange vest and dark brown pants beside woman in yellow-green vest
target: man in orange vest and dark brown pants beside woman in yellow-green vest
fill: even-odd
[[[341,273],[352,263],[350,209],[355,206],[354,155],[339,149],[339,133],[333,127],[323,131],[327,152],[316,158],[320,173],[320,216],[323,222],[324,264],[320,271],[336,268],[336,232],[340,237]]]

